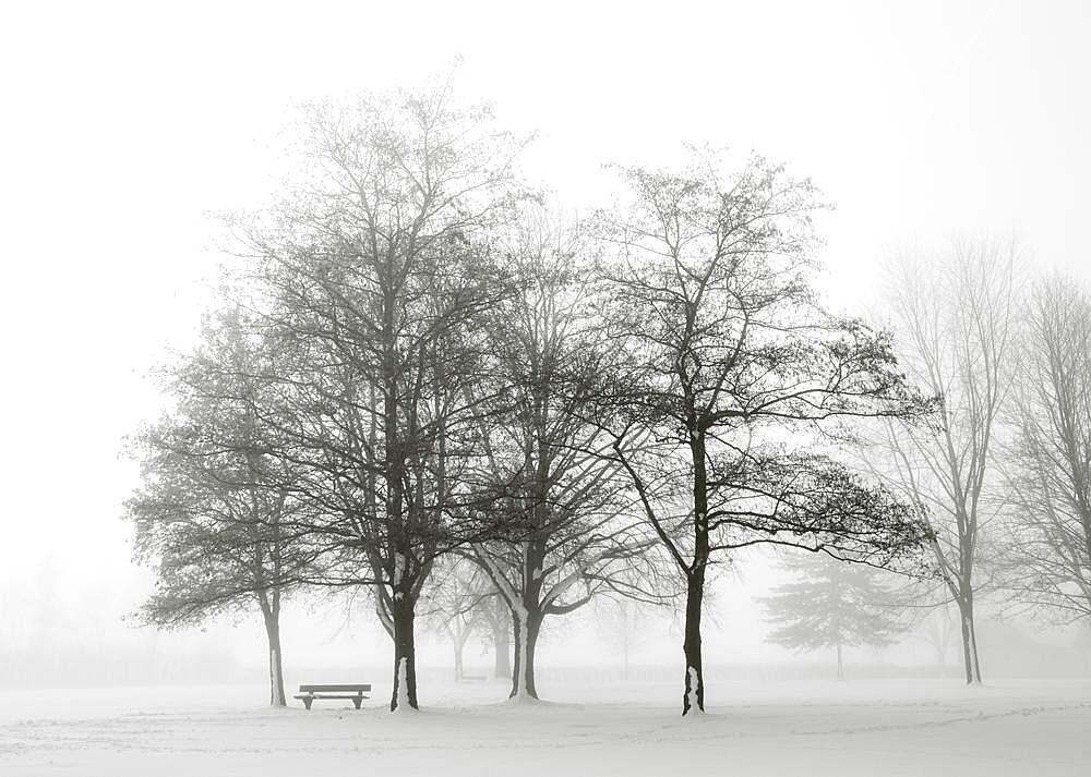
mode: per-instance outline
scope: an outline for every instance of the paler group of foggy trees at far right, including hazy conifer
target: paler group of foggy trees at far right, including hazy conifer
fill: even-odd
[[[927,423],[877,425],[859,451],[926,515],[932,574],[895,590],[861,578],[849,593],[831,570],[794,564],[802,581],[767,603],[784,623],[772,638],[804,649],[880,645],[915,620],[908,605],[942,614],[945,651],[954,605],[966,681],[980,683],[981,596],[1002,614],[1091,616],[1091,294],[1065,276],[1028,279],[1012,242],[957,240],[888,269],[899,362],[939,401]],[[804,591],[828,603],[808,611]],[[867,628],[873,618],[889,623]]]

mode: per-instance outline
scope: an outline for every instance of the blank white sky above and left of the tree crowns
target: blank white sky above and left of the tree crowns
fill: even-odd
[[[576,204],[598,166],[680,141],[810,175],[827,286],[1015,233],[1091,277],[1091,3],[8,3],[0,11],[0,593],[46,567],[121,585],[142,376],[184,344],[218,260],[207,210],[265,190],[286,109],[412,83],[537,129],[531,171]],[[139,594],[139,592],[137,592]]]

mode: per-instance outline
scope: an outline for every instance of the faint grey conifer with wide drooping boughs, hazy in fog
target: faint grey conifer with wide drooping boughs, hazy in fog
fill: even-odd
[[[763,599],[775,626],[768,640],[794,651],[832,647],[838,680],[844,679],[843,647],[889,645],[908,628],[879,570],[825,554],[788,556],[784,568],[796,580]]]

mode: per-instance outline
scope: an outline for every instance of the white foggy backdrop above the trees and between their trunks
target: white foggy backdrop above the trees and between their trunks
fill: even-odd
[[[193,343],[214,294],[224,255],[212,214],[271,190],[301,101],[413,84],[460,59],[459,90],[492,101],[506,126],[537,131],[530,175],[582,208],[606,191],[604,162],[671,163],[680,141],[757,148],[836,203],[818,230],[820,284],[837,309],[874,309],[883,257],[955,234],[1017,235],[1036,269],[1091,280],[1087,4],[671,8],[5,11],[0,683],[266,677],[257,617],[163,632],[128,619],[152,571],[131,562],[121,503],[137,471],[121,451],[165,406],[149,371]],[[758,599],[782,581],[769,551],[720,571],[710,676],[831,676],[831,656],[767,642]],[[619,671],[594,607],[546,627],[543,678]],[[999,615],[986,598],[988,676],[1091,675],[1086,630]],[[635,678],[679,675],[678,618],[648,610]],[[286,604],[283,632],[289,682],[389,673],[369,602],[303,594]],[[423,676],[451,670],[444,640],[421,634],[419,651]],[[491,660],[471,640],[468,671]],[[850,678],[939,673],[920,629],[849,649],[847,666]],[[947,672],[959,672],[957,638]]]

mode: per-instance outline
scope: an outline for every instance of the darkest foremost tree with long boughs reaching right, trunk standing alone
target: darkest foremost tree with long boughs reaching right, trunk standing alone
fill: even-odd
[[[614,460],[686,588],[683,715],[704,709],[700,621],[718,556],[757,543],[887,563],[913,553],[916,510],[839,461],[828,434],[927,408],[887,336],[822,308],[808,286],[818,207],[807,181],[760,158],[721,178],[622,170],[599,216],[600,369]]]

